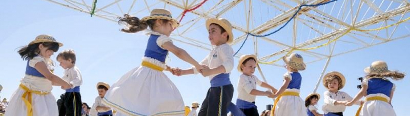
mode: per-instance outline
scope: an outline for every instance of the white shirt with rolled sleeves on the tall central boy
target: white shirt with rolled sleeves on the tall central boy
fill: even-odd
[[[211,53],[209,53],[199,64],[206,65],[211,69],[217,68],[222,65],[225,68],[225,73],[230,73],[234,64],[233,54],[234,51],[232,47],[230,47],[228,44],[222,44],[212,49]],[[194,69],[194,74],[199,73],[194,66],[192,67],[192,69]],[[212,80],[212,78],[214,78],[216,75],[218,74],[212,74],[208,77],[210,80]]]

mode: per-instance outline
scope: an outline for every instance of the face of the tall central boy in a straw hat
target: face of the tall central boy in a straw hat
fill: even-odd
[[[211,42],[212,45],[214,46],[219,46],[222,45],[224,43],[226,43],[228,41],[227,37],[228,37],[228,33],[227,32],[223,32],[221,33],[221,28],[216,25],[216,24],[211,24],[209,26],[209,36],[208,39]]]

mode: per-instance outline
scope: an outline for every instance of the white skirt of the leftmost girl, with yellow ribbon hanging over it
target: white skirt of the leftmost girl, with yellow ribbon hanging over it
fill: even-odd
[[[21,84],[30,90],[48,92],[46,95],[32,93],[33,116],[58,116],[57,102],[50,92],[52,88],[51,81],[46,78],[26,75],[21,80]],[[11,95],[5,116],[27,116],[27,106],[21,98],[24,92],[25,90],[19,86]]]

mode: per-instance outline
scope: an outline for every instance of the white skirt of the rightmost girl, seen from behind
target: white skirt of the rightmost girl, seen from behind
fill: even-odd
[[[374,97],[374,96],[381,96],[386,98],[387,101],[390,101],[390,97],[386,96],[385,94],[369,94],[366,98]],[[366,99],[365,98],[365,99]],[[385,101],[373,100],[373,101],[366,101],[363,104],[362,110],[360,110],[360,116],[396,116],[392,105]]]

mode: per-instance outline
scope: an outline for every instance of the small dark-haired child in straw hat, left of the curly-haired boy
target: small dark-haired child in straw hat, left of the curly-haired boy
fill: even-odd
[[[317,112],[317,108],[314,106],[317,104],[317,101],[319,101],[320,94],[317,93],[311,93],[307,95],[305,99],[305,106],[307,110],[307,116],[323,116],[323,114],[319,114]]]

